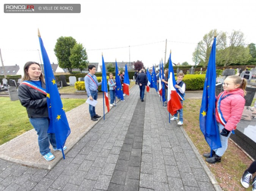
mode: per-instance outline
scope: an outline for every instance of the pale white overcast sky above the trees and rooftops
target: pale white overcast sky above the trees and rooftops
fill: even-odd
[[[61,36],[82,43],[89,62],[159,64],[169,57],[174,63],[193,65],[192,53],[204,34],[212,29],[231,34],[240,30],[246,43],[256,43],[256,0],[38,0],[36,3],[79,3],[81,13],[0,13],[0,48],[3,63],[23,68],[39,59],[39,28],[50,62],[57,63],[54,47]],[[33,4],[26,0],[22,3]],[[130,46],[130,56],[129,56]],[[124,47],[124,48],[119,48]],[[95,50],[97,49],[97,50]],[[41,54],[41,52],[40,52]]]

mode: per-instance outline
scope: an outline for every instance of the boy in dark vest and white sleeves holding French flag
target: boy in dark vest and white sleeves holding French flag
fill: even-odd
[[[177,74],[176,85],[174,86],[176,88],[176,91],[178,92],[179,98],[181,100],[181,105],[183,105],[183,100],[185,100],[184,96],[185,96],[185,89],[186,89],[186,85],[182,81],[183,77],[184,77],[183,73],[178,73]],[[179,113],[179,122],[177,124],[178,125],[183,125],[183,109],[179,109],[177,111],[177,113],[174,114],[174,117],[171,118],[171,120],[178,119],[178,113]]]

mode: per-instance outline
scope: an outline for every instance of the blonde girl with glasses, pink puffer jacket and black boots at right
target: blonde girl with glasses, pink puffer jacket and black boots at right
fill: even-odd
[[[210,153],[203,155],[209,163],[220,162],[221,156],[228,148],[231,131],[236,129],[237,123],[242,117],[246,84],[246,79],[235,75],[228,76],[223,83],[224,92],[218,95],[215,109],[222,147],[214,149],[212,157],[210,157]]]

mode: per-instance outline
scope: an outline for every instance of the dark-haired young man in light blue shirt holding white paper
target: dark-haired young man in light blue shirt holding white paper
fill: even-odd
[[[89,65],[88,66],[89,73],[85,76],[85,89],[87,92],[88,98],[93,101],[98,98],[98,86],[101,85],[101,82],[98,82],[97,77],[94,75],[96,73],[96,66]],[[101,116],[97,115],[95,112],[95,106],[89,105],[89,112],[91,116],[91,120],[97,121],[97,118]]]

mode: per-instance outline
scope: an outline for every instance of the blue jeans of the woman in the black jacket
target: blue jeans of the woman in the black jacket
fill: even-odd
[[[49,148],[50,143],[53,148],[57,148],[55,134],[47,133],[49,127],[48,118],[30,118],[29,121],[38,134],[38,145],[42,156],[51,151]]]

